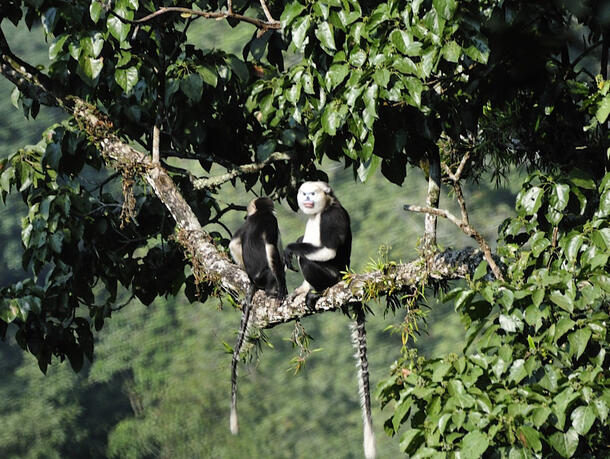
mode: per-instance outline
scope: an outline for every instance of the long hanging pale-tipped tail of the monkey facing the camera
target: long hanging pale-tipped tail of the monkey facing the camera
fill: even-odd
[[[356,349],[356,366],[358,367],[358,389],[360,405],[362,406],[362,421],[364,423],[364,457],[375,459],[377,447],[373,432],[371,416],[371,389],[369,384],[369,362],[366,358],[366,330],[364,328],[364,311],[359,309],[356,321],[352,323],[352,344]]]

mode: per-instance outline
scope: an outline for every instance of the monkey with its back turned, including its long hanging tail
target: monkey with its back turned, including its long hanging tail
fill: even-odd
[[[237,434],[237,363],[244,342],[252,298],[257,290],[283,300],[287,295],[282,243],[273,201],[267,197],[250,201],[245,223],[235,232],[229,243],[231,256],[245,269],[250,279],[246,304],[241,317],[237,343],[231,362],[231,433]]]

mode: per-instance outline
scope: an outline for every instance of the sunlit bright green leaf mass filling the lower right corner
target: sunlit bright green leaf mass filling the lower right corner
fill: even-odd
[[[379,388],[386,430],[418,457],[599,457],[610,386],[610,174],[530,176],[501,226],[505,282],[482,262],[450,292],[462,355],[405,355]]]

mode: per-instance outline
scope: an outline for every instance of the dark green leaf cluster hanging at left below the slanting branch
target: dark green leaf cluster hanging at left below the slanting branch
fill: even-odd
[[[177,244],[163,242],[174,222],[161,203],[144,199],[144,188],[134,190],[135,222],[123,225],[116,175],[100,177],[97,150],[74,126],[55,125],[43,137],[0,162],[3,199],[18,191],[29,209],[21,231],[29,278],[0,290],[0,333],[15,325],[43,371],[52,356],[78,370],[92,359],[92,330],[111,316],[120,287],[145,304],[176,294],[185,260]]]

